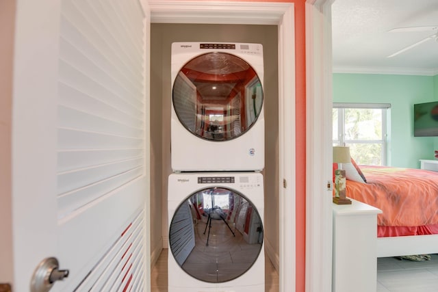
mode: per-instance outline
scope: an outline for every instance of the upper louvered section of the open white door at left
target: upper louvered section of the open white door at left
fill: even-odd
[[[57,192],[65,216],[142,174],[145,105],[143,31],[128,30],[142,27],[140,5],[62,5]]]

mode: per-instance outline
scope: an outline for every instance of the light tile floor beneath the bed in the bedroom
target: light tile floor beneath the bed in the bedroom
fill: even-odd
[[[430,261],[377,259],[377,292],[437,292],[438,254]]]

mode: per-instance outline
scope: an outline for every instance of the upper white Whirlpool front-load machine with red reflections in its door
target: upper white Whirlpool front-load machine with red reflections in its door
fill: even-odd
[[[262,45],[174,42],[171,61],[172,170],[262,170]]]

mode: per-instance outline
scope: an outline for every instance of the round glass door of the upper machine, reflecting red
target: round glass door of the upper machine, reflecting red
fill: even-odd
[[[179,71],[172,103],[190,133],[224,141],[243,135],[255,124],[263,105],[257,72],[229,53],[205,53]]]

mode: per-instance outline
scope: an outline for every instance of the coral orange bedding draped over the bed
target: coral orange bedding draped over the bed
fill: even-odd
[[[438,234],[438,172],[360,165],[367,183],[348,181],[346,194],[383,211],[378,237]]]

